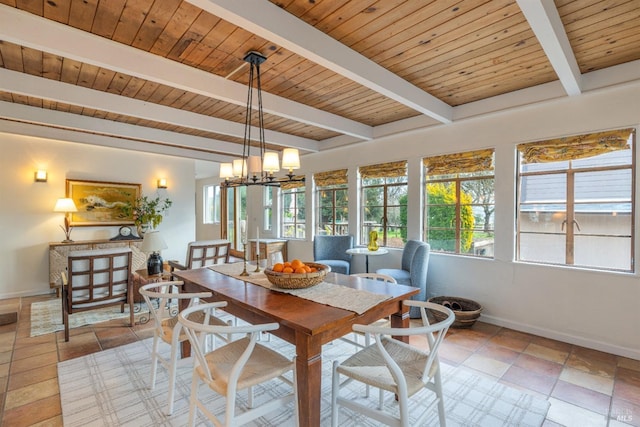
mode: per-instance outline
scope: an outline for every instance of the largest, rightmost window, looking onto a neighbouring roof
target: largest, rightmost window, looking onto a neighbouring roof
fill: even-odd
[[[518,146],[517,259],[633,270],[633,129]]]

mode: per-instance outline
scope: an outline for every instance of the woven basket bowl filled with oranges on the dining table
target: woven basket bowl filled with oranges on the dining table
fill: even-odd
[[[329,271],[328,265],[294,259],[265,268],[264,274],[279,288],[303,289],[321,283]]]

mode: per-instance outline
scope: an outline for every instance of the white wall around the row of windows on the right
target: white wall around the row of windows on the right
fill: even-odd
[[[429,155],[495,148],[495,259],[432,254],[429,296],[471,298],[484,306],[486,321],[640,359],[638,274],[514,262],[515,145],[562,135],[637,127],[639,124],[640,84],[628,84],[307,155],[302,158],[305,170],[301,172],[310,178],[314,172],[349,168],[350,230],[355,234],[357,166],[408,160],[409,238],[420,239],[420,159]],[[308,195],[311,194],[310,189],[308,179]],[[638,200],[636,194],[636,205]],[[311,213],[311,209],[308,212]],[[308,221],[307,227],[312,229],[311,219]],[[637,224],[636,219],[636,230]],[[637,234],[635,244],[640,248]],[[296,250],[305,255],[310,253],[311,236],[304,243],[292,243],[290,248],[297,249],[290,250],[290,254]],[[376,263],[371,269],[399,264],[399,260],[398,252],[391,257],[375,257],[370,260],[372,264]],[[356,261],[354,269],[361,270],[362,260]]]

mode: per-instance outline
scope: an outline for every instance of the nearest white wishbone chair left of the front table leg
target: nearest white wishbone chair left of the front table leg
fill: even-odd
[[[236,426],[246,424],[265,414],[293,402],[295,425],[298,425],[298,387],[296,381],[296,364],[293,360],[258,342],[260,334],[279,328],[277,323],[261,325],[218,326],[209,325],[207,320],[210,311],[226,306],[226,302],[202,304],[183,310],[178,320],[189,337],[191,349],[195,353],[191,397],[189,403],[189,426],[195,422],[196,410],[200,410],[217,426]],[[202,322],[192,320],[192,316],[202,313]],[[224,346],[206,351],[203,342],[208,334],[244,334]],[[292,373],[292,379],[285,376]],[[280,380],[291,387],[291,392],[275,397],[267,402],[254,406],[253,387],[271,380]],[[213,392],[226,399],[224,414],[214,414],[198,398],[200,383],[204,383]],[[248,404],[238,404],[237,394],[241,390],[249,392]]]

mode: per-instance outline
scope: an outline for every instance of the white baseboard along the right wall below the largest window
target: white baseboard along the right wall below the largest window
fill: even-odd
[[[640,349],[617,346],[614,344],[596,341],[578,335],[565,334],[563,332],[554,331],[552,329],[539,328],[525,323],[514,322],[512,320],[500,317],[481,315],[479,321],[490,323],[496,326],[513,329],[520,332],[527,332],[544,338],[554,339],[569,344],[579,345],[593,350],[599,350],[617,356],[628,357],[630,359],[640,360]]]

